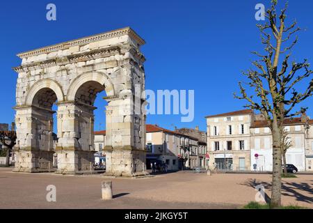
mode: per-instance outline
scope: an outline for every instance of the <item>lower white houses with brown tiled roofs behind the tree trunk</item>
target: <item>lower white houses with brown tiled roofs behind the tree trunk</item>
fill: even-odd
[[[309,164],[312,151],[310,130],[312,120],[307,116],[287,118],[284,120],[284,130],[288,132],[291,148],[287,150],[287,164],[294,164],[298,171],[313,171],[312,161]],[[312,125],[312,128],[308,128]],[[270,128],[265,120],[253,121],[250,127],[251,170],[271,171],[273,169],[273,141]],[[312,157],[313,158],[313,157]],[[306,164],[306,160],[307,164]]]

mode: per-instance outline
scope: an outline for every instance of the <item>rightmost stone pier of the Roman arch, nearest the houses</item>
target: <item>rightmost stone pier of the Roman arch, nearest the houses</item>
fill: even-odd
[[[134,114],[132,94],[106,98],[106,175],[145,175],[145,151],[141,138],[142,122]]]

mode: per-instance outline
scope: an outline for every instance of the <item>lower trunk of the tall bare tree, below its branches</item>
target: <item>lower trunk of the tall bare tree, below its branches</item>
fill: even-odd
[[[272,178],[272,194],[271,208],[281,206],[281,190],[282,190],[282,151],[281,151],[281,131],[276,118],[273,118],[273,178]],[[275,120],[276,119],[276,120]]]

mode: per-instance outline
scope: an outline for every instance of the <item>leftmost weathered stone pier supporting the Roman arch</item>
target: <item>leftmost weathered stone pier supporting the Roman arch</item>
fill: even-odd
[[[53,169],[53,117],[49,109],[16,107],[17,144],[15,169],[48,172]]]

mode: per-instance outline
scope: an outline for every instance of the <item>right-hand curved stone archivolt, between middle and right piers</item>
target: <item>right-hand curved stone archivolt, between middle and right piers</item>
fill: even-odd
[[[79,88],[85,84],[86,82],[98,82],[99,84],[102,84],[105,87],[106,95],[107,96],[114,96],[114,86],[109,79],[109,76],[106,75],[105,72],[86,72],[83,75],[80,75],[74,81],[70,84],[70,87],[67,91],[67,100],[68,101],[74,101],[75,96]]]

